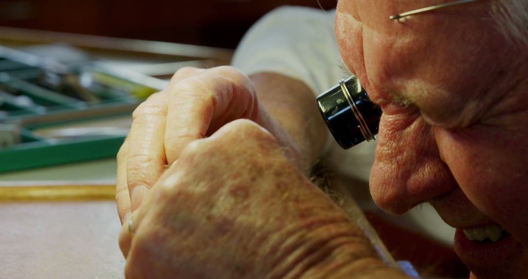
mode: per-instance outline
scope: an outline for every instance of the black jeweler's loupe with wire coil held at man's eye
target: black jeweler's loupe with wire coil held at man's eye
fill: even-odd
[[[352,76],[317,97],[326,126],[341,147],[348,149],[378,134],[381,108],[372,103],[360,81]]]

